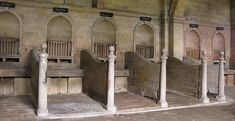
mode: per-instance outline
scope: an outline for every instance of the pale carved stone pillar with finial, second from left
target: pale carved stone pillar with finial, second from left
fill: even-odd
[[[109,68],[108,68],[108,100],[107,100],[107,110],[111,113],[116,112],[116,106],[114,104],[114,62],[116,56],[114,55],[114,47],[109,47],[110,54],[109,58]]]

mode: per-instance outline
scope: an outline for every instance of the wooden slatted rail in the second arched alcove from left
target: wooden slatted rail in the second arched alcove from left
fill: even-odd
[[[70,57],[72,53],[72,42],[47,40],[47,53],[49,56]]]

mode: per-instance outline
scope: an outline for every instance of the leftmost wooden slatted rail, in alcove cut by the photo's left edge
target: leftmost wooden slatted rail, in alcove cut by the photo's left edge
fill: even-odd
[[[19,55],[19,39],[0,38],[1,55]]]

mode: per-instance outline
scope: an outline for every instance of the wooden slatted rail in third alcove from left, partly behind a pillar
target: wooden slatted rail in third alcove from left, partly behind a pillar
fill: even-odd
[[[97,57],[101,59],[107,59],[109,54],[109,46],[114,46],[116,53],[115,43],[94,43],[94,53]]]

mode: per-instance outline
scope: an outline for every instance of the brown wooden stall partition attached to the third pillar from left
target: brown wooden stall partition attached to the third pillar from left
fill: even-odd
[[[128,89],[136,94],[159,98],[160,63],[153,63],[134,52],[125,53],[129,69]]]

